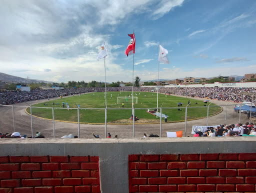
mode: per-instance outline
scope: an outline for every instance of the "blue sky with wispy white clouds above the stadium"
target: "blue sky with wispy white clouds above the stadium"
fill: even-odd
[[[255,7],[255,0],[1,0],[0,72],[54,82],[128,82],[132,69],[140,80],[256,73]],[[126,56],[133,30],[135,53]],[[96,59],[103,42],[105,63]],[[159,44],[169,64],[158,70]]]

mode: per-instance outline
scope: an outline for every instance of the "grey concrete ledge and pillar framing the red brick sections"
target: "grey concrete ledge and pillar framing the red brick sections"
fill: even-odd
[[[128,192],[129,154],[250,153],[256,152],[256,137],[6,138],[0,149],[0,156],[99,156],[101,192]]]

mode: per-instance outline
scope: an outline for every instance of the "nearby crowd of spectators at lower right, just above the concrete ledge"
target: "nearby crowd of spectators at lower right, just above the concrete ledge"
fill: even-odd
[[[217,127],[207,127],[204,131],[199,128],[194,132],[193,136],[256,136],[256,125],[252,122],[230,125],[220,124]]]

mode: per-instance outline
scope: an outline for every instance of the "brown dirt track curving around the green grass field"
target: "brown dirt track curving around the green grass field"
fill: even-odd
[[[180,96],[180,95],[177,95]],[[180,96],[186,97],[186,96]],[[187,97],[189,99],[191,97]],[[52,98],[55,99],[55,98]],[[196,98],[199,100],[204,100],[204,98]],[[38,102],[46,101],[47,99],[42,99]],[[220,100],[210,100],[217,105],[222,105],[223,110],[214,115],[208,117],[208,125],[217,125],[217,124],[231,124],[239,122],[239,113],[234,112],[234,102],[228,101],[220,101]],[[69,122],[60,122],[53,121],[48,119],[42,119],[38,117],[34,117],[27,114],[25,112],[25,108],[29,105],[36,103],[36,101],[29,101],[27,103],[17,103],[14,105],[14,123],[13,123],[13,113],[12,106],[1,106],[0,107],[0,132],[12,133],[13,131],[20,132],[21,135],[27,134],[35,135],[36,131],[40,131],[45,137],[56,137],[59,138],[63,135],[68,135],[72,133],[73,135],[79,135],[82,138],[93,138],[92,132],[94,134],[98,134],[100,138],[105,137],[105,133],[110,132],[113,136],[117,135],[118,138],[128,138],[133,137],[133,125],[131,120],[126,120],[127,123],[130,124],[77,124],[77,123],[69,123]],[[228,105],[227,105],[228,104]],[[31,123],[32,119],[32,123]],[[171,117],[168,120],[171,120]],[[165,131],[183,131],[183,136],[191,136],[192,125],[207,125],[207,118],[201,118],[196,120],[189,120],[183,122],[170,122],[164,123],[162,122],[161,127],[159,120],[153,119],[153,121],[157,121],[158,123],[144,123],[145,120],[139,119],[135,121],[134,125],[134,137],[142,137],[143,133],[149,135],[150,133],[161,135],[162,137],[166,137]],[[245,123],[249,121],[247,119],[247,115],[241,113],[240,122]],[[113,123],[118,123],[115,121]],[[54,125],[54,126],[53,126]],[[32,127],[32,129],[31,129]],[[54,129],[53,129],[54,127]]]

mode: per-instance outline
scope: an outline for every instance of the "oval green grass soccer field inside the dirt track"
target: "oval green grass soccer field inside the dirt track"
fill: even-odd
[[[127,96],[129,94],[129,98],[123,98],[122,101],[117,104],[117,96]],[[121,92],[107,92],[106,96],[106,105],[107,105],[107,123],[132,123],[129,120],[129,117],[132,113],[132,100],[131,100],[131,91],[121,91]],[[136,95],[135,95],[136,94]],[[111,97],[112,95],[112,97]],[[156,108],[156,92],[135,92],[134,96],[138,97],[137,104],[135,103],[135,115],[139,118],[136,123],[146,123],[146,122],[159,122],[159,117],[150,114],[147,112],[147,109],[153,110]],[[120,98],[119,98],[120,100]],[[136,101],[134,99],[134,101]],[[54,104],[52,104],[54,102]],[[63,97],[50,100],[47,105],[44,103],[38,103],[33,106],[41,106],[48,108],[32,108],[32,114],[52,119],[52,107],[61,107],[61,109],[54,109],[54,119],[55,120],[65,120],[65,121],[74,121],[77,122],[77,109],[65,109],[62,108],[62,102],[68,102],[70,108],[76,108],[80,104],[79,110],[79,121],[80,123],[104,123],[105,121],[105,109],[104,109],[104,92],[94,92],[94,93],[86,93]],[[122,102],[124,103],[124,108],[122,108]],[[172,95],[158,94],[158,112],[160,112],[160,106],[162,105],[162,113],[167,114],[168,121],[179,121],[185,119],[185,108],[181,108],[181,110],[177,110],[177,108],[167,108],[167,107],[178,107],[177,103],[181,102],[183,105],[181,107],[185,107],[187,105],[188,99],[183,97],[177,97]],[[197,104],[195,104],[197,102]],[[58,103],[58,105],[56,104]],[[202,100],[190,99],[189,108],[187,108],[187,119],[199,118],[207,116],[207,107],[198,108],[198,106],[204,106],[204,102]],[[207,103],[206,105],[208,105]],[[215,114],[221,110],[218,106],[213,106],[211,103],[209,107],[209,115]],[[66,107],[66,104],[65,104]],[[97,108],[97,109],[90,109]],[[99,109],[100,108],[100,109]],[[112,109],[116,108],[116,109]],[[129,109],[126,109],[129,108]],[[145,108],[145,109],[137,109],[137,108]],[[27,112],[30,113],[30,109],[27,109]],[[162,118],[164,121],[164,118]]]

